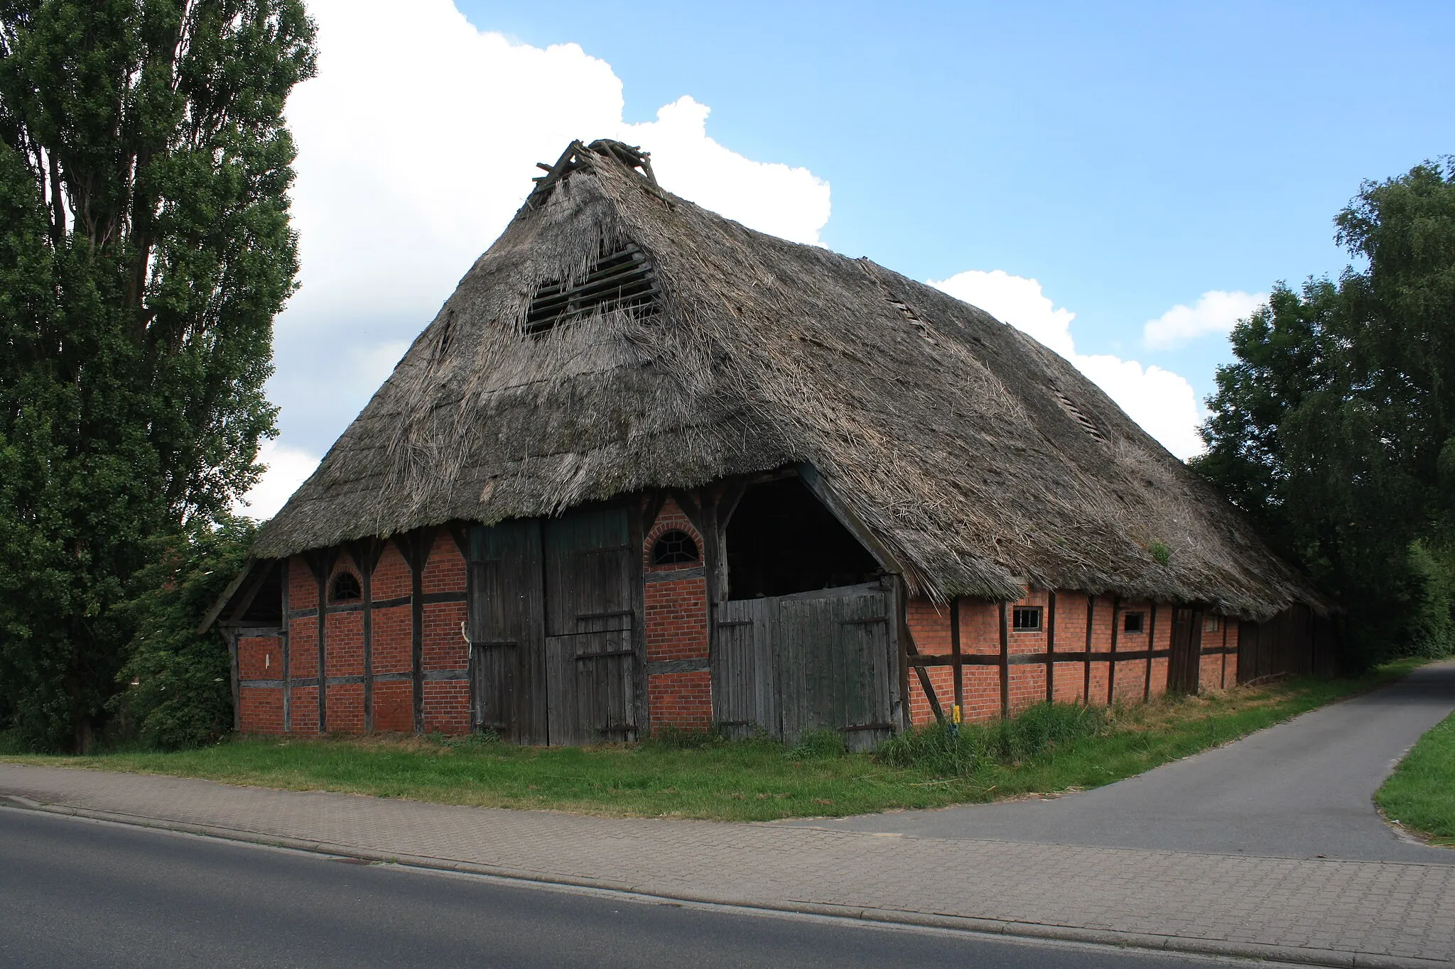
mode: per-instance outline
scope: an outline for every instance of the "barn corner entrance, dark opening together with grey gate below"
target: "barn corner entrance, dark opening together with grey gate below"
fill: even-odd
[[[714,610],[713,719],[796,742],[889,737],[898,696],[895,593],[874,556],[797,477],[748,488],[723,536],[728,601]]]

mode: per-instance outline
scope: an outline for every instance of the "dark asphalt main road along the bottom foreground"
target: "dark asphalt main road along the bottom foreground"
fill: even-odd
[[[1251,965],[633,901],[0,809],[0,966]]]

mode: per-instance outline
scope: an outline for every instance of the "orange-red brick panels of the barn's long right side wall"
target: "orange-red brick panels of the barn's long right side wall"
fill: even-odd
[[[1110,596],[1099,596],[1094,600],[1094,616],[1091,623],[1093,652],[1109,652],[1112,649],[1112,623],[1116,600]],[[1049,633],[1051,597],[1046,590],[1027,590],[1017,603],[1007,603],[1007,625],[1011,625],[1008,613],[1014,606],[1042,607],[1042,628],[1035,632],[1010,631],[1008,651],[1016,654],[1043,654]],[[1123,617],[1129,612],[1144,615],[1142,632],[1125,632],[1120,629]],[[1117,652],[1132,652],[1148,649],[1148,632],[1151,625],[1151,603],[1123,601],[1116,610],[1115,622],[1117,631]],[[950,607],[936,606],[927,600],[912,600],[908,609],[909,631],[915,645],[924,655],[950,655]],[[1227,622],[1227,620],[1224,620]],[[1173,607],[1168,603],[1157,606],[1157,626],[1151,631],[1155,636],[1155,649],[1168,649],[1173,635]],[[1228,645],[1237,648],[1237,622],[1228,625]],[[1203,633],[1203,645],[1221,645],[1222,632]],[[1075,591],[1056,593],[1056,652],[1083,652],[1087,648],[1087,596]],[[965,655],[1000,655],[1000,604],[973,599],[960,600],[960,652]],[[1152,664],[1151,696],[1157,697],[1167,692],[1167,658],[1158,657]],[[1123,703],[1139,703],[1147,693],[1147,660],[1123,660],[1116,664],[1116,699]],[[1091,664],[1090,702],[1106,705],[1109,696],[1109,667],[1106,661]],[[946,715],[954,702],[954,674],[950,667],[930,667],[931,686],[940,700]],[[1237,657],[1228,657],[1227,684],[1234,686],[1237,680]],[[966,721],[991,721],[1001,713],[1000,697],[1000,667],[998,665],[966,665],[962,673]],[[1222,683],[1222,657],[1209,655],[1202,658],[1202,689],[1216,690]],[[1085,665],[1081,661],[1058,662],[1055,671],[1055,699],[1064,703],[1087,702]],[[1010,667],[1010,712],[1011,715],[1046,699],[1046,665],[1042,662],[1020,664]],[[914,723],[928,723],[934,719],[930,700],[920,686],[920,677],[909,673],[909,716]]]

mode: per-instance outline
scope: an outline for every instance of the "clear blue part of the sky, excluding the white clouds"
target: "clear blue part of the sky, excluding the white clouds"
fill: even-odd
[[[1147,320],[1337,273],[1360,180],[1455,151],[1449,3],[458,6],[608,61],[627,121],[691,94],[717,141],[810,169],[829,247],[1035,277],[1078,349],[1203,392],[1225,341],[1152,354]]]

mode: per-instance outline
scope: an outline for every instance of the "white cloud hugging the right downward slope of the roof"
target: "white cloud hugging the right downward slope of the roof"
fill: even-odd
[[[1058,308],[1035,279],[1011,276],[1000,269],[988,273],[968,270],[940,282],[931,279],[930,285],[979,307],[1067,357],[1142,430],[1179,458],[1202,452],[1197,424],[1203,420],[1203,410],[1192,384],[1160,366],[1144,368],[1136,360],[1077,353],[1071,338],[1071,321],[1077,314]]]

